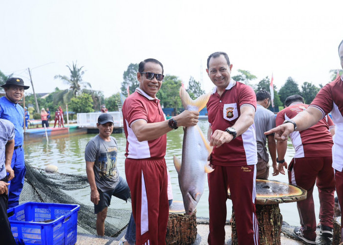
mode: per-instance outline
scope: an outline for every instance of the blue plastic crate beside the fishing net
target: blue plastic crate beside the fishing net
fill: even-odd
[[[26,202],[7,210],[17,244],[74,245],[80,205]]]

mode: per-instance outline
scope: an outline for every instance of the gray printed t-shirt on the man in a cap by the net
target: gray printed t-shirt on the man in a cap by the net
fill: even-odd
[[[94,162],[95,182],[103,192],[114,190],[118,184],[117,141],[110,136],[111,141],[101,139],[99,135],[91,139],[85,149],[85,159]]]

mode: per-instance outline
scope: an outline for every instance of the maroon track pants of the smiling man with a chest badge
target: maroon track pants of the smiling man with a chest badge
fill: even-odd
[[[209,186],[210,234],[208,244],[225,243],[225,221],[227,190],[230,188],[235,210],[238,243],[240,245],[259,244],[258,222],[256,219],[256,167],[223,167],[214,165],[207,175]]]

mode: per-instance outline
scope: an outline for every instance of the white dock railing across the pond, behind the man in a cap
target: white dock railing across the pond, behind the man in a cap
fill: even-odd
[[[98,117],[101,112],[77,113],[77,125],[79,127],[97,127]],[[114,120],[114,127],[123,127],[123,113],[121,111],[109,111]]]

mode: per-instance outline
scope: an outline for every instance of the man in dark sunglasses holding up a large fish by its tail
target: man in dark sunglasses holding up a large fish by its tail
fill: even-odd
[[[194,126],[198,112],[183,111],[166,120],[156,98],[163,81],[163,65],[156,59],[139,64],[139,88],[125,99],[123,123],[127,139],[125,174],[136,222],[136,244],[166,244],[169,204],[167,194],[166,133]]]

